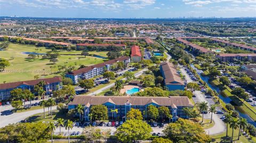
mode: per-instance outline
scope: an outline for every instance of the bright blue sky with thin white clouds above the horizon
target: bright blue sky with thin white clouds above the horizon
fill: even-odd
[[[0,0],[0,16],[47,18],[256,17],[256,0]]]

